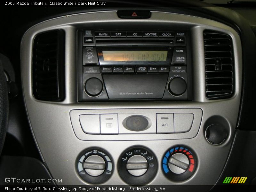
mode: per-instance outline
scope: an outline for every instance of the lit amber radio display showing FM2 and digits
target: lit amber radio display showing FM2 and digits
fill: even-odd
[[[166,61],[168,51],[102,51],[104,61]]]

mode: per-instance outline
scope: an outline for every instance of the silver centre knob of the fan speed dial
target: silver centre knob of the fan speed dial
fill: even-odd
[[[98,155],[89,156],[83,163],[83,168],[91,176],[99,176],[105,171],[106,163]]]

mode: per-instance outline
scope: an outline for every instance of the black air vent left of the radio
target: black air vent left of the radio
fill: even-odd
[[[65,98],[65,32],[52,30],[37,35],[33,49],[33,94],[38,100]]]

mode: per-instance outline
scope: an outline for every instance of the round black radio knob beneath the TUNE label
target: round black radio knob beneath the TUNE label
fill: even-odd
[[[181,77],[174,77],[169,82],[168,90],[172,95],[180,96],[187,90],[187,83]]]

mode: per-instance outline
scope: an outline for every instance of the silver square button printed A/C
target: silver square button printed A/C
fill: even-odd
[[[173,113],[156,114],[156,133],[174,133]]]

